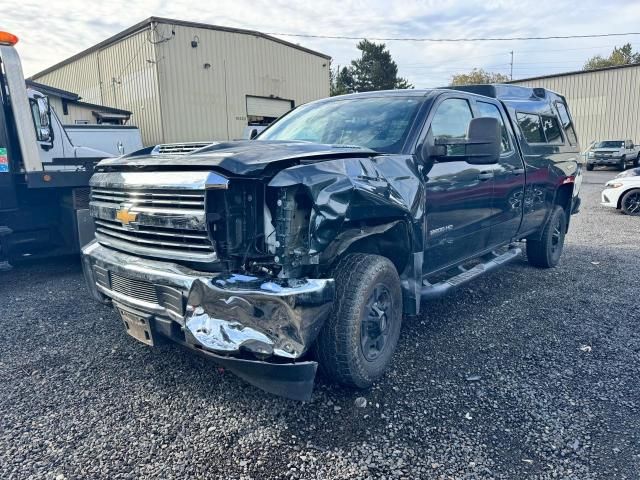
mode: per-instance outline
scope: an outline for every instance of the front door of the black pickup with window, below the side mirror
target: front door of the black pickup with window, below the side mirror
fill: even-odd
[[[434,108],[426,142],[467,136],[473,118],[468,99],[449,97]],[[495,166],[455,159],[428,163],[424,270],[433,272],[487,248]]]

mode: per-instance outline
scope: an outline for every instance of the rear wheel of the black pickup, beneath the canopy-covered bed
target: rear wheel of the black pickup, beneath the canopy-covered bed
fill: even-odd
[[[562,207],[556,206],[539,239],[527,239],[527,260],[534,267],[551,268],[560,261],[567,232],[567,217]]]

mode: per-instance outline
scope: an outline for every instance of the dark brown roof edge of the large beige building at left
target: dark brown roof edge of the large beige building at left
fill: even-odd
[[[264,38],[266,40],[270,40],[276,43],[280,43],[282,45],[286,45],[287,47],[291,47],[291,48],[295,48],[297,50],[301,50],[303,52],[306,53],[310,53],[312,55],[317,55],[318,57],[330,60],[331,56],[326,55],[324,53],[320,53],[317,52],[315,50],[311,50],[309,48],[297,45],[295,43],[291,43],[291,42],[287,42],[286,40],[281,40],[280,38],[276,38],[276,37],[272,37],[271,35],[267,35],[266,33],[262,33],[262,32],[258,32],[257,30],[245,30],[242,28],[233,28],[233,27],[222,27],[220,25],[210,25],[207,23],[198,23],[198,22],[189,22],[189,21],[185,21],[185,20],[176,20],[173,18],[164,18],[164,17],[149,17],[146,20],[143,20],[140,23],[136,23],[135,25],[132,25],[131,27],[121,31],[120,33],[117,33],[115,35],[113,35],[112,37],[107,38],[106,40],[103,40],[100,43],[95,44],[92,47],[87,48],[86,50],[81,51],[80,53],[77,53],[69,58],[67,58],[66,60],[63,60],[62,62],[56,63],[55,65],[52,65],[49,68],[46,68],[44,70],[42,70],[41,72],[35,73],[34,75],[29,77],[29,80],[34,79],[34,78],[38,78],[42,75],[46,75],[47,73],[50,73],[54,70],[57,70],[60,67],[63,67],[64,65],[67,65],[75,60],[78,60],[79,58],[84,57],[85,55],[88,55],[89,53],[95,52],[97,50],[101,50],[105,47],[108,47],[109,45],[113,45],[114,43],[117,43],[118,41],[127,38],[135,33],[138,33],[146,28],[150,28],[152,24],[154,23],[163,23],[166,25],[179,25],[179,26],[183,26],[183,27],[192,27],[192,28],[203,28],[203,29],[207,29],[207,30],[218,30],[221,32],[229,32],[229,33],[242,33],[245,35],[253,35],[255,37],[260,37],[260,38]]]

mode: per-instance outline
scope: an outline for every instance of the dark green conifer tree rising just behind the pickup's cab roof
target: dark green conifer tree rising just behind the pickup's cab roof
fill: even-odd
[[[362,40],[358,50],[360,58],[332,74],[331,95],[413,88],[407,79],[398,77],[398,65],[384,43]]]

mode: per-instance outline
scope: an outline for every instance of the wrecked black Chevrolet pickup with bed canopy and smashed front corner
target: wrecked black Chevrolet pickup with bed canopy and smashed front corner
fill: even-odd
[[[91,179],[83,267],[129,334],[308,399],[365,388],[404,317],[518,257],[555,266],[582,160],[564,97],[478,85],[302,105],[256,139],[145,149]]]

